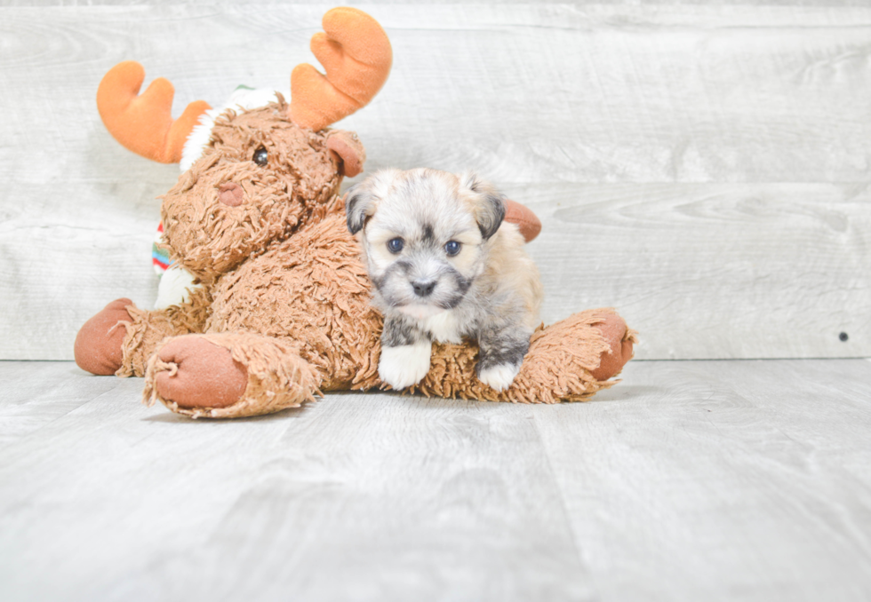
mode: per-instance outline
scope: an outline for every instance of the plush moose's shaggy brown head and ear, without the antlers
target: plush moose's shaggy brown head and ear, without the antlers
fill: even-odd
[[[317,217],[339,192],[348,164],[356,170],[363,164],[356,134],[302,128],[287,109],[279,97],[266,107],[220,115],[203,155],[164,195],[164,242],[201,281],[213,281]]]

